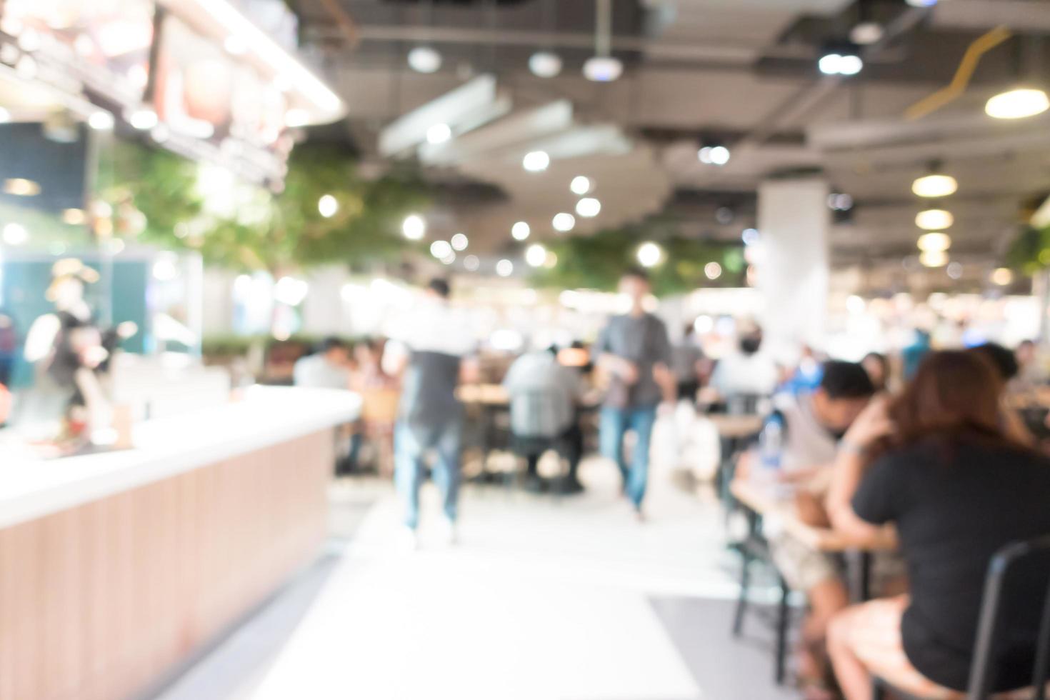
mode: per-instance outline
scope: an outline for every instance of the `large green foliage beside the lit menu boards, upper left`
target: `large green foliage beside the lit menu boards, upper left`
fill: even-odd
[[[130,204],[145,214],[144,240],[200,251],[208,264],[237,272],[279,276],[318,264],[362,268],[396,258],[407,246],[399,235],[401,220],[426,205],[423,186],[411,173],[366,179],[352,158],[326,144],[292,152],[280,194],[223,178],[202,184],[196,164],[139,144],[118,145],[112,157],[112,182],[103,198],[116,210]],[[326,194],[339,204],[331,218],[317,208]]]

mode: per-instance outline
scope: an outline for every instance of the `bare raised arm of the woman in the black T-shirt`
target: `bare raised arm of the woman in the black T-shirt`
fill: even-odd
[[[888,501],[885,495],[880,496],[883,501],[880,507],[873,509],[878,511],[878,516],[870,519],[860,517],[854,509],[853,503],[867,471],[868,464],[865,452],[876,441],[892,431],[892,423],[886,413],[886,405],[885,398],[875,399],[842,439],[832,472],[832,485],[825,501],[832,527],[849,538],[856,539],[859,545],[884,540],[885,533],[880,526],[890,519],[886,514],[889,506],[885,503]],[[885,484],[886,481],[884,478],[880,480],[883,490],[888,487]],[[873,486],[872,489],[874,488]],[[866,500],[874,501],[875,499],[875,495],[869,494]],[[878,522],[873,522],[873,519]]]

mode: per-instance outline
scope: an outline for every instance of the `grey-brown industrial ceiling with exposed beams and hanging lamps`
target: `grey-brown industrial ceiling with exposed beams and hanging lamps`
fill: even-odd
[[[293,4],[309,50],[349,105],[344,136],[376,160],[384,128],[413,110],[425,113],[428,103],[482,75],[495,78],[506,108],[456,141],[488,143],[506,120],[565,101],[571,121],[560,133],[605,128],[628,145],[552,154],[539,176],[520,165],[521,149],[536,135],[527,129],[519,143],[504,139],[471,157],[423,157],[437,183],[484,183],[505,194],[461,200],[441,217],[494,251],[512,243],[509,225],[520,218],[541,222],[533,227],[540,235],[554,235],[546,222],[571,211],[575,197],[567,184],[575,174],[594,176],[603,200],[600,217],[581,232],[658,218],[681,232],[735,239],[754,224],[759,182],[823,173],[856,203],[852,220],[833,232],[840,264],[899,267],[916,252],[921,203],[909,188],[930,160],[942,160],[959,179],[948,207],[961,260],[993,264],[1022,205],[1050,192],[1050,116],[1004,123],[983,113],[984,101],[1029,66],[1042,67],[1050,81],[1047,0],[942,0],[925,9],[903,0],[610,0],[612,51],[626,66],[610,84],[581,75],[594,52],[591,0]],[[880,42],[864,48],[865,69],[848,79],[822,77],[816,61],[823,44],[864,18],[885,28]],[[1014,36],[981,60],[959,99],[919,120],[904,116],[948,84],[974,39],[1000,25]],[[423,44],[443,55],[435,73],[406,65],[407,51]],[[529,72],[528,57],[540,48],[562,56],[560,77]],[[699,163],[701,140],[729,145],[730,163]],[[714,212],[727,201],[733,220],[718,224]]]

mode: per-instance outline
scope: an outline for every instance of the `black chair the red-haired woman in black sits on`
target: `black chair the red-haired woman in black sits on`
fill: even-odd
[[[1042,611],[1037,637],[1011,639],[1006,623],[1018,611],[1034,614],[1037,610]],[[1002,662],[1016,659],[1018,650],[1027,653],[1032,642],[1035,658],[1031,700],[1046,700],[1050,675],[1050,535],[1007,545],[992,557],[981,602],[967,700],[991,700]],[[887,692],[900,700],[923,700],[877,678],[875,699],[884,700]]]

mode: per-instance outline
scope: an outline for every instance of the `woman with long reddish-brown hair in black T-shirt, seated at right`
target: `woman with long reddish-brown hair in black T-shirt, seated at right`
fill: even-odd
[[[828,648],[847,700],[872,697],[873,674],[919,697],[961,698],[989,560],[1050,532],[1050,461],[1003,427],[1001,393],[981,355],[934,353],[900,397],[873,403],[843,440],[832,521],[860,546],[895,525],[910,579],[909,594],[833,620]],[[1037,588],[1018,594],[1042,600],[1045,584]],[[1020,645],[1001,664],[996,692],[1031,682],[1032,610],[1005,622]]]

